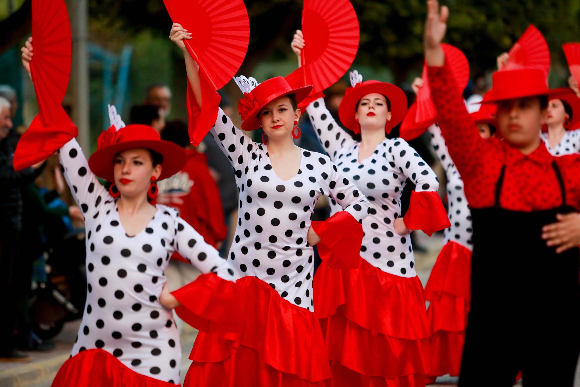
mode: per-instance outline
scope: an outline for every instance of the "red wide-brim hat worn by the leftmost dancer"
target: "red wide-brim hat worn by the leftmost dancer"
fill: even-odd
[[[111,126],[100,134],[97,150],[89,157],[90,170],[98,177],[114,182],[115,155],[128,149],[151,149],[163,156],[158,180],[176,174],[187,162],[186,152],[181,146],[162,140],[153,127],[133,124],[119,130]]]

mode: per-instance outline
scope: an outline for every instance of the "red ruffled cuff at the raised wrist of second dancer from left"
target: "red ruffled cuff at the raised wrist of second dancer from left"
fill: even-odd
[[[219,103],[222,97],[217,91],[213,91],[205,79],[204,72],[200,69],[201,85],[201,108],[195,101],[193,89],[187,81],[187,117],[189,118],[189,141],[194,146],[208,134],[209,130],[218,119]]]

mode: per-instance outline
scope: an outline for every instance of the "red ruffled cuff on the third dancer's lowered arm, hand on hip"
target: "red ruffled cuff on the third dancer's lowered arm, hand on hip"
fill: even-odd
[[[433,191],[413,191],[404,220],[407,228],[422,230],[429,236],[451,226],[439,194]]]

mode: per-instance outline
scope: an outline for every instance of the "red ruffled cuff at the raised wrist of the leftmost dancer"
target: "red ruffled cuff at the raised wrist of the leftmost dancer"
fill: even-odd
[[[62,106],[61,123],[44,125],[40,114],[32,120],[30,127],[20,137],[14,158],[14,170],[20,171],[42,162],[63,147],[68,141],[77,137],[78,128],[68,118]]]

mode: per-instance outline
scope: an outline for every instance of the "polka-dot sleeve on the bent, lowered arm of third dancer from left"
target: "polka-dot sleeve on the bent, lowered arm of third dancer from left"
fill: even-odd
[[[402,138],[385,143],[385,153],[391,167],[398,169],[417,186],[416,192],[437,191],[437,175],[419,154]]]

